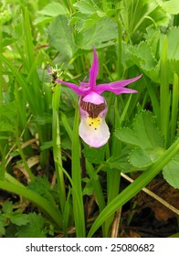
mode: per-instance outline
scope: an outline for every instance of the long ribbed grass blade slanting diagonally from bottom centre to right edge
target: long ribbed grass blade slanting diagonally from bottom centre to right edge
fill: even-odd
[[[91,229],[89,229],[88,237],[96,232],[100,228],[102,223],[108,219],[118,208],[127,203],[132,197],[139,193],[143,187],[145,187],[154,176],[156,176],[166,165],[172,157],[179,150],[179,138],[171,145],[163,155],[159,156],[156,161],[147,168],[141,176],[136,178],[136,180],[128,187],[126,187],[117,197],[115,197],[110,204],[102,210],[98,218],[94,221]]]

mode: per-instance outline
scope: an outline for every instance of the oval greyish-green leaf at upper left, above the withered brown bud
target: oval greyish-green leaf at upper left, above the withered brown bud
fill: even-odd
[[[71,59],[75,43],[72,27],[66,16],[57,16],[49,27],[49,43],[56,48],[66,60]]]

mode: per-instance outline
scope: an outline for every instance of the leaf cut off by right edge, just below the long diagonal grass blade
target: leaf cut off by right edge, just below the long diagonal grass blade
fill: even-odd
[[[171,186],[179,188],[179,155],[163,167],[163,177]]]

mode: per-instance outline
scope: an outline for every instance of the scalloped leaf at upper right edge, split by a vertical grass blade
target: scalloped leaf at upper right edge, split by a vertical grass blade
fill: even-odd
[[[153,81],[160,80],[160,62],[162,57],[164,35],[158,28],[148,27],[145,41],[137,46],[128,47],[132,61]],[[178,27],[171,27],[166,32],[169,61],[167,76],[173,83],[174,72],[179,76],[179,37]]]

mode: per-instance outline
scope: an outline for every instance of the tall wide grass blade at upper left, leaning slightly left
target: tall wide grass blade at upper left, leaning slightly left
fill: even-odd
[[[26,85],[28,85],[28,91],[30,93],[30,97],[33,99],[33,104],[35,108],[32,109],[32,112],[36,116],[43,116],[45,112],[45,103],[43,93],[41,92],[41,81],[38,78],[37,74],[37,60],[39,55],[36,57],[35,48],[33,45],[33,29],[30,24],[29,14],[27,7],[23,8],[23,28],[24,28],[24,65],[27,69],[28,78],[26,80]],[[27,82],[29,80],[29,82]],[[30,105],[30,109],[31,109]],[[37,124],[37,132],[39,136],[40,144],[47,142],[47,125]],[[40,151],[40,164],[42,167],[47,165],[47,150]]]

